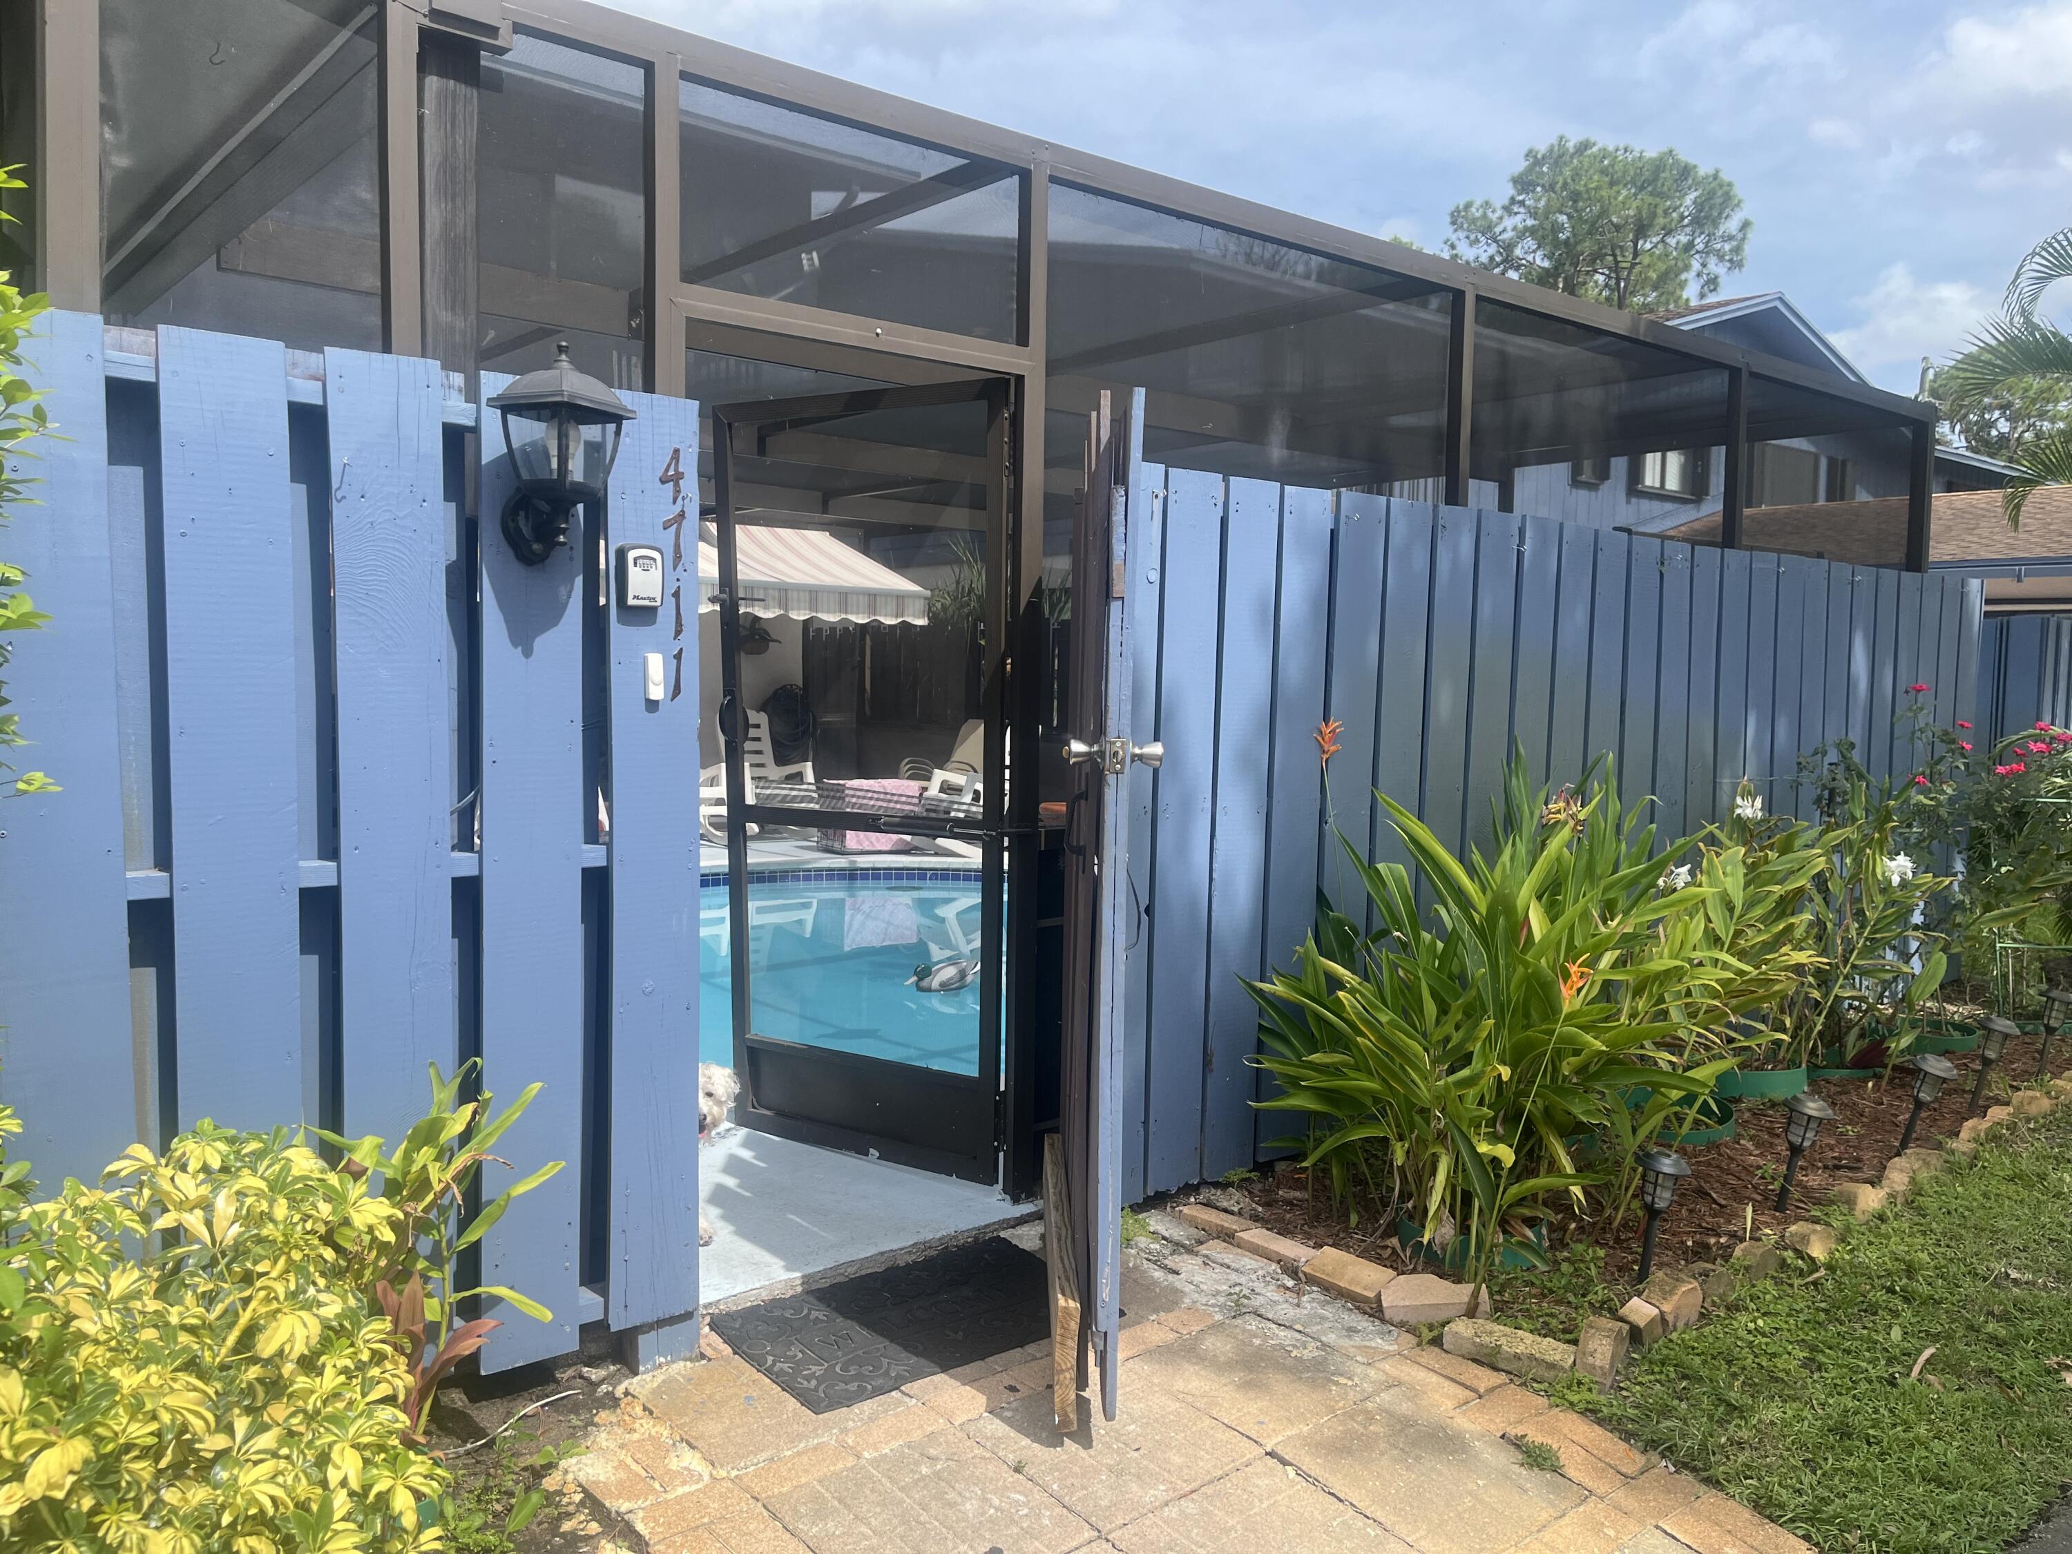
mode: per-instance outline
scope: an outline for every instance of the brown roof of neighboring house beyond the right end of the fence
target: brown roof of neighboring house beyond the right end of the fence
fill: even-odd
[[[1693,518],[1662,530],[1662,537],[1718,545],[1720,514]],[[1906,559],[1906,497],[1749,508],[1740,520],[1740,543],[1751,551],[1900,566]],[[2020,528],[2008,528],[1999,491],[1939,491],[1929,528],[1929,564],[1950,572],[1995,574],[2072,566],[2072,485],[2033,491],[2022,508]]]

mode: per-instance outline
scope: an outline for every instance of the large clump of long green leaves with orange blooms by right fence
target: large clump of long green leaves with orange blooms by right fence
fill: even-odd
[[[1666,887],[1653,829],[1641,806],[1620,810],[1608,771],[1581,794],[1533,794],[1521,752],[1492,854],[1467,862],[1378,798],[1432,893],[1430,922],[1409,868],[1347,843],[1376,928],[1320,901],[1295,970],[1247,982],[1258,1063],[1283,1086],[1258,1104],[1310,1119],[1287,1144],[1341,1198],[1357,1171],[1434,1247],[1465,1237],[1479,1287],[1504,1245],[1539,1256],[1531,1227],[1556,1198],[1583,1210],[1585,1189],[1618,1179],[1732,1067],[1693,1048],[1736,970],[1662,953],[1658,926],[1703,891]],[[1581,1148],[1591,1138],[1602,1154]]]

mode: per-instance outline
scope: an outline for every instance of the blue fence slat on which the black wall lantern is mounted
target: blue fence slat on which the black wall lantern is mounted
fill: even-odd
[[[483,400],[508,379],[483,373]],[[520,1171],[566,1160],[559,1175],[516,1200],[483,1237],[483,1283],[508,1285],[553,1312],[535,1322],[506,1301],[483,1351],[485,1372],[576,1349],[582,1204],[584,930],[582,837],[595,796],[582,792],[582,555],[588,522],[570,545],[524,566],[497,528],[512,491],[497,416],[481,427],[481,1019],[483,1084],[499,1102],[543,1084],[499,1154]],[[493,1173],[487,1193],[510,1173]]]

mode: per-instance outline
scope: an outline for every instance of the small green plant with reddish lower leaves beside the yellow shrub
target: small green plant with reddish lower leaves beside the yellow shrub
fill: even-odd
[[[472,1100],[462,1092],[479,1073],[474,1059],[452,1077],[431,1065],[431,1111],[416,1121],[394,1152],[383,1152],[383,1140],[367,1135],[346,1140],[338,1133],[311,1129],[323,1142],[344,1150],[344,1171],[381,1179],[381,1200],[402,1216],[404,1233],[394,1251],[377,1266],[371,1289],[390,1324],[404,1341],[410,1390],[404,1407],[412,1430],[423,1430],[431,1415],[433,1394],[452,1370],[472,1355],[489,1334],[503,1326],[495,1318],[456,1322],[462,1301],[479,1295],[499,1297],[541,1322],[553,1314],[539,1301],[506,1285],[456,1289],[460,1254],[472,1247],[503,1218],[524,1193],[539,1187],[562,1169],[549,1160],[520,1177],[474,1214],[468,1198],[483,1164],[510,1162],[493,1154],[497,1140],[524,1117],[541,1092],[530,1084],[501,1113],[491,1113],[493,1096],[483,1090]]]

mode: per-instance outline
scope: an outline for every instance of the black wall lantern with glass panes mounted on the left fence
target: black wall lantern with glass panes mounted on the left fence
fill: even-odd
[[[568,543],[568,516],[584,501],[601,501],[620,431],[634,412],[605,383],[576,369],[568,342],[553,352],[553,367],[526,373],[489,400],[503,416],[518,489],[503,503],[503,539],[526,566],[539,566]]]

